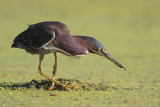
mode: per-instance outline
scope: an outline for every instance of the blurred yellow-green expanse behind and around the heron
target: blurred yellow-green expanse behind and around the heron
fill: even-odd
[[[138,99],[132,98],[130,92],[127,95],[140,104],[158,104],[159,96],[154,94],[150,98],[150,95],[155,93],[152,88],[156,92],[160,90],[159,12],[159,0],[0,0],[0,82],[43,79],[37,73],[38,55],[11,49],[11,44],[27,29],[27,24],[60,21],[69,27],[72,35],[92,36],[101,41],[127,71],[92,54],[83,59],[59,55],[57,78],[105,82],[120,88],[142,85],[147,87],[143,93],[149,90],[149,95],[137,94]],[[46,73],[52,74],[53,64],[53,55],[46,55],[43,64]],[[94,100],[89,101],[92,104]],[[122,104],[124,99],[113,101]]]

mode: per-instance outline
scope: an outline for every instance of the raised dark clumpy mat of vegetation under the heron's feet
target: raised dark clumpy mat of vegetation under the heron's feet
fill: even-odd
[[[58,78],[57,81],[62,84],[67,84],[69,86],[81,87],[82,90],[91,91],[91,90],[118,90],[115,87],[108,86],[105,83],[84,83],[77,79],[63,79]],[[0,83],[0,90],[2,89],[10,89],[10,90],[27,90],[27,89],[43,89],[48,90],[48,87],[51,85],[51,81],[49,80],[31,80],[30,82],[23,83],[13,83],[13,82],[3,82]],[[59,87],[55,84],[54,90],[66,90],[62,87]],[[70,90],[78,90],[78,89],[70,89]]]

